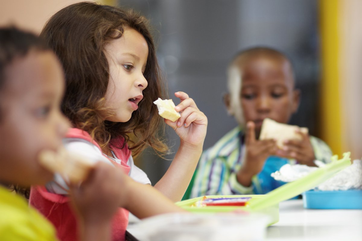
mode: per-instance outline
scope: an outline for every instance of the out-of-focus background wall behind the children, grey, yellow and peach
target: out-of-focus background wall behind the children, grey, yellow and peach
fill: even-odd
[[[79,1],[79,0],[77,0]],[[0,24],[37,33],[47,19],[76,0],[0,0]],[[277,48],[293,61],[299,111],[290,124],[306,126],[334,153],[362,156],[362,22],[360,0],[103,0],[150,19],[169,96],[185,91],[209,120],[204,149],[237,124],[222,102],[226,66],[243,48]],[[169,130],[172,150],[178,137]],[[168,156],[172,159],[173,155]],[[146,151],[136,160],[153,184],[170,160]]]

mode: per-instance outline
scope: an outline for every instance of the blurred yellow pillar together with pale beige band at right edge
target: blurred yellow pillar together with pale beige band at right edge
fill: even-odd
[[[362,159],[362,1],[320,0],[320,135]]]

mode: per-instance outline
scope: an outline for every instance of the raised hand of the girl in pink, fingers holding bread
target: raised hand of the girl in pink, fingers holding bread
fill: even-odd
[[[175,122],[165,119],[166,124],[175,130],[182,143],[193,149],[202,147],[206,136],[207,117],[185,92],[176,92],[175,96],[181,100],[175,107],[176,111],[181,112],[181,117]]]

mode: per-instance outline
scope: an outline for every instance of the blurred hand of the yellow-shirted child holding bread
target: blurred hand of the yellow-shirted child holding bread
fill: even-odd
[[[126,175],[122,169],[98,162],[80,185],[70,186],[72,205],[84,224],[109,223],[123,206]]]

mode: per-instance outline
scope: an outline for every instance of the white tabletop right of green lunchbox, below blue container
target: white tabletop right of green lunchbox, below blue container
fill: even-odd
[[[266,240],[362,241],[362,210],[305,209],[301,199],[284,201]]]

